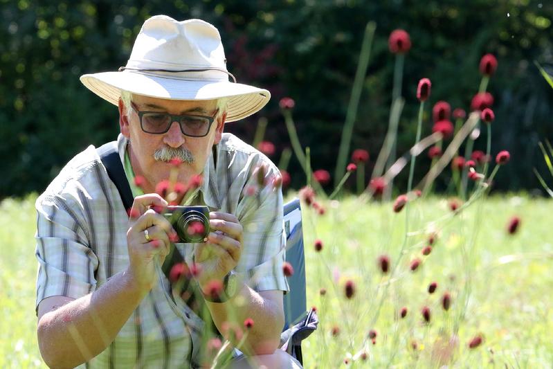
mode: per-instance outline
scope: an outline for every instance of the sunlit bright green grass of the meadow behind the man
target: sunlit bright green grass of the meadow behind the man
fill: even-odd
[[[0,204],[0,368],[45,367],[36,339],[34,199]],[[545,368],[553,362],[552,200],[492,197],[455,216],[444,199],[414,201],[413,235],[392,278],[381,275],[376,260],[386,253],[395,266],[406,209],[395,214],[391,204],[363,204],[353,197],[323,205],[323,216],[303,210],[307,303],[316,305],[321,322],[302,345],[306,368],[345,367],[348,357],[357,368],[434,368],[437,345],[450,340],[455,368]],[[513,215],[522,222],[518,233],[508,235]],[[437,242],[424,257],[420,251],[433,231]],[[312,246],[316,239],[324,243],[320,253]],[[423,263],[412,273],[408,264],[415,256]],[[351,300],[343,294],[347,279],[356,283]],[[438,283],[433,295],[426,291],[431,281]],[[319,295],[321,287],[325,296]],[[440,305],[446,290],[453,296],[448,312]],[[429,325],[421,323],[424,305],[432,310]],[[403,306],[408,315],[397,319]],[[334,325],[338,336],[331,334]],[[352,362],[372,328],[378,336],[375,345],[368,340],[365,346],[368,360]],[[468,341],[479,333],[484,343],[469,350]]]

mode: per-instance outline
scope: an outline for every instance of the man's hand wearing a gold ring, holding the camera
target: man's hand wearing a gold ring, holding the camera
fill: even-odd
[[[176,235],[171,223],[154,210],[166,207],[167,201],[154,193],[137,196],[130,210],[127,231],[128,272],[136,282],[135,287],[143,293],[156,285],[156,256],[159,255],[159,262],[163,263],[170,252],[170,237]]]

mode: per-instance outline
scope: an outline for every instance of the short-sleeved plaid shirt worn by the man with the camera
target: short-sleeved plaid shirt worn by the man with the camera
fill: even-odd
[[[120,135],[123,163],[126,147],[127,139]],[[286,242],[282,192],[266,186],[259,196],[244,194],[246,186],[255,186],[252,172],[257,165],[268,165],[266,179],[278,169],[232,134],[223,134],[213,151],[194,203],[239,219],[243,249],[235,271],[248,277],[248,285],[256,291],[289,291],[282,273]],[[49,296],[87,295],[128,267],[127,212],[93,146],[66,165],[37,199],[36,208],[37,308]],[[193,247],[185,246],[176,244],[190,263]],[[171,298],[169,281],[161,273],[159,278],[114,342],[80,368],[195,366],[204,323],[181,298]]]

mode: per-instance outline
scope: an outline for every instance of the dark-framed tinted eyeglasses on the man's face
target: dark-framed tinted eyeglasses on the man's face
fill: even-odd
[[[190,137],[205,137],[209,133],[209,129],[215,120],[217,111],[213,116],[195,116],[163,113],[161,111],[138,111],[131,103],[131,107],[140,120],[140,127],[149,134],[164,134],[171,128],[173,122],[179,123],[183,135]]]

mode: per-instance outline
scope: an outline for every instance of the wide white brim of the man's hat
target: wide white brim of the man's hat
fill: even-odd
[[[269,102],[266,89],[221,80],[183,80],[133,72],[85,74],[80,81],[93,93],[118,105],[121,91],[169,100],[228,98],[226,121],[233,122],[260,111]]]

